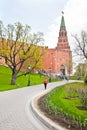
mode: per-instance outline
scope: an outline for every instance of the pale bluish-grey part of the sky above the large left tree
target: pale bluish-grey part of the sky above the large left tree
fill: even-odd
[[[35,31],[46,32],[67,0],[0,0],[0,20],[21,22]]]

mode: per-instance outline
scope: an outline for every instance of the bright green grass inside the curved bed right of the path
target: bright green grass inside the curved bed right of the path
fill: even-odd
[[[62,87],[57,87],[45,98],[45,107],[48,109],[50,114],[63,114],[69,118],[74,119],[79,122],[79,125],[87,126],[87,110],[80,110],[77,106],[82,106],[77,94],[74,92],[67,93],[68,88],[79,88],[84,86],[83,83],[71,83],[63,85]],[[70,97],[71,98],[67,98]]]

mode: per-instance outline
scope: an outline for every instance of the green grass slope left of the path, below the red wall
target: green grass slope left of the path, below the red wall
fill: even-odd
[[[43,80],[44,76],[30,74],[31,85],[42,84]],[[16,85],[11,85],[11,70],[8,67],[0,66],[0,91],[26,87],[27,84],[28,75],[19,77],[16,81]]]

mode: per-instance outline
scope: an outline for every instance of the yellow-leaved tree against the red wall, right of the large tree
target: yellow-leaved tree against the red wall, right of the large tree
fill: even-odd
[[[43,59],[42,56],[46,52],[46,49],[44,49],[41,46],[33,46],[32,51],[36,50],[31,58],[25,61],[22,70],[28,71],[28,66],[30,65],[32,68],[32,71],[40,71],[43,69]]]

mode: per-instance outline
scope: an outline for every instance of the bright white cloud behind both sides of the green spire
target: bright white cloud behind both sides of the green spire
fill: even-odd
[[[87,0],[68,0],[63,11],[69,43],[72,47],[71,34],[79,34],[81,30],[87,30]],[[46,45],[51,48],[57,45],[60,22],[61,18],[58,16],[45,35]]]

